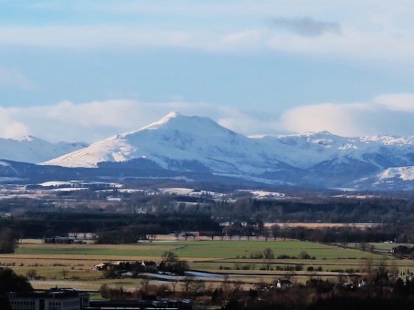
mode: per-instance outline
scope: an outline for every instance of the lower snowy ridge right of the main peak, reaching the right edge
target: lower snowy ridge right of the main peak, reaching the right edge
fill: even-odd
[[[414,164],[414,136],[372,136],[346,138],[329,132],[289,136],[256,136],[273,149],[278,161],[302,169],[331,161],[346,165],[371,163],[378,169]]]

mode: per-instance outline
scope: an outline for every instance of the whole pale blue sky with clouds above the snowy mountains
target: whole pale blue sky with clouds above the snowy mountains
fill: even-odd
[[[0,0],[0,137],[169,112],[245,135],[414,135],[410,0]]]

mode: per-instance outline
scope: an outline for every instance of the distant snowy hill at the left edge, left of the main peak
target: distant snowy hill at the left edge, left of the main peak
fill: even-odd
[[[87,144],[79,142],[50,143],[34,136],[23,136],[19,140],[0,138],[0,159],[41,163],[83,147],[87,147]]]

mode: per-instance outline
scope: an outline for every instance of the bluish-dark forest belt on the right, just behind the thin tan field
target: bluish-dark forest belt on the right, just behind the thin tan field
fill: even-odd
[[[320,199],[239,199],[234,203],[209,206],[212,214],[223,218],[264,222],[322,223],[411,223],[414,200],[391,198]]]

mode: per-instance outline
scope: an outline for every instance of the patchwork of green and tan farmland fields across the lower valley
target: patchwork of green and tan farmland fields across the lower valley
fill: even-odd
[[[266,270],[265,260],[260,258],[266,248],[271,249],[275,257],[268,262],[270,270]],[[103,283],[136,287],[141,282],[139,278],[105,279],[101,271],[94,271],[92,267],[117,260],[155,260],[159,263],[163,252],[169,250],[181,260],[187,260],[190,269],[227,273],[229,278],[249,283],[281,278],[287,267],[300,267],[296,272],[298,281],[307,279],[309,267],[319,268],[318,275],[322,278],[334,278],[338,273],[333,271],[362,269],[367,258],[373,265],[385,262],[397,268],[414,268],[412,260],[395,260],[391,256],[357,249],[296,240],[156,240],[130,245],[55,245],[24,240],[14,254],[2,254],[0,263],[11,266],[21,275],[34,269],[41,276],[32,281],[35,288],[45,288],[53,283],[88,290],[99,289]],[[301,251],[306,251],[310,259],[299,259]]]

